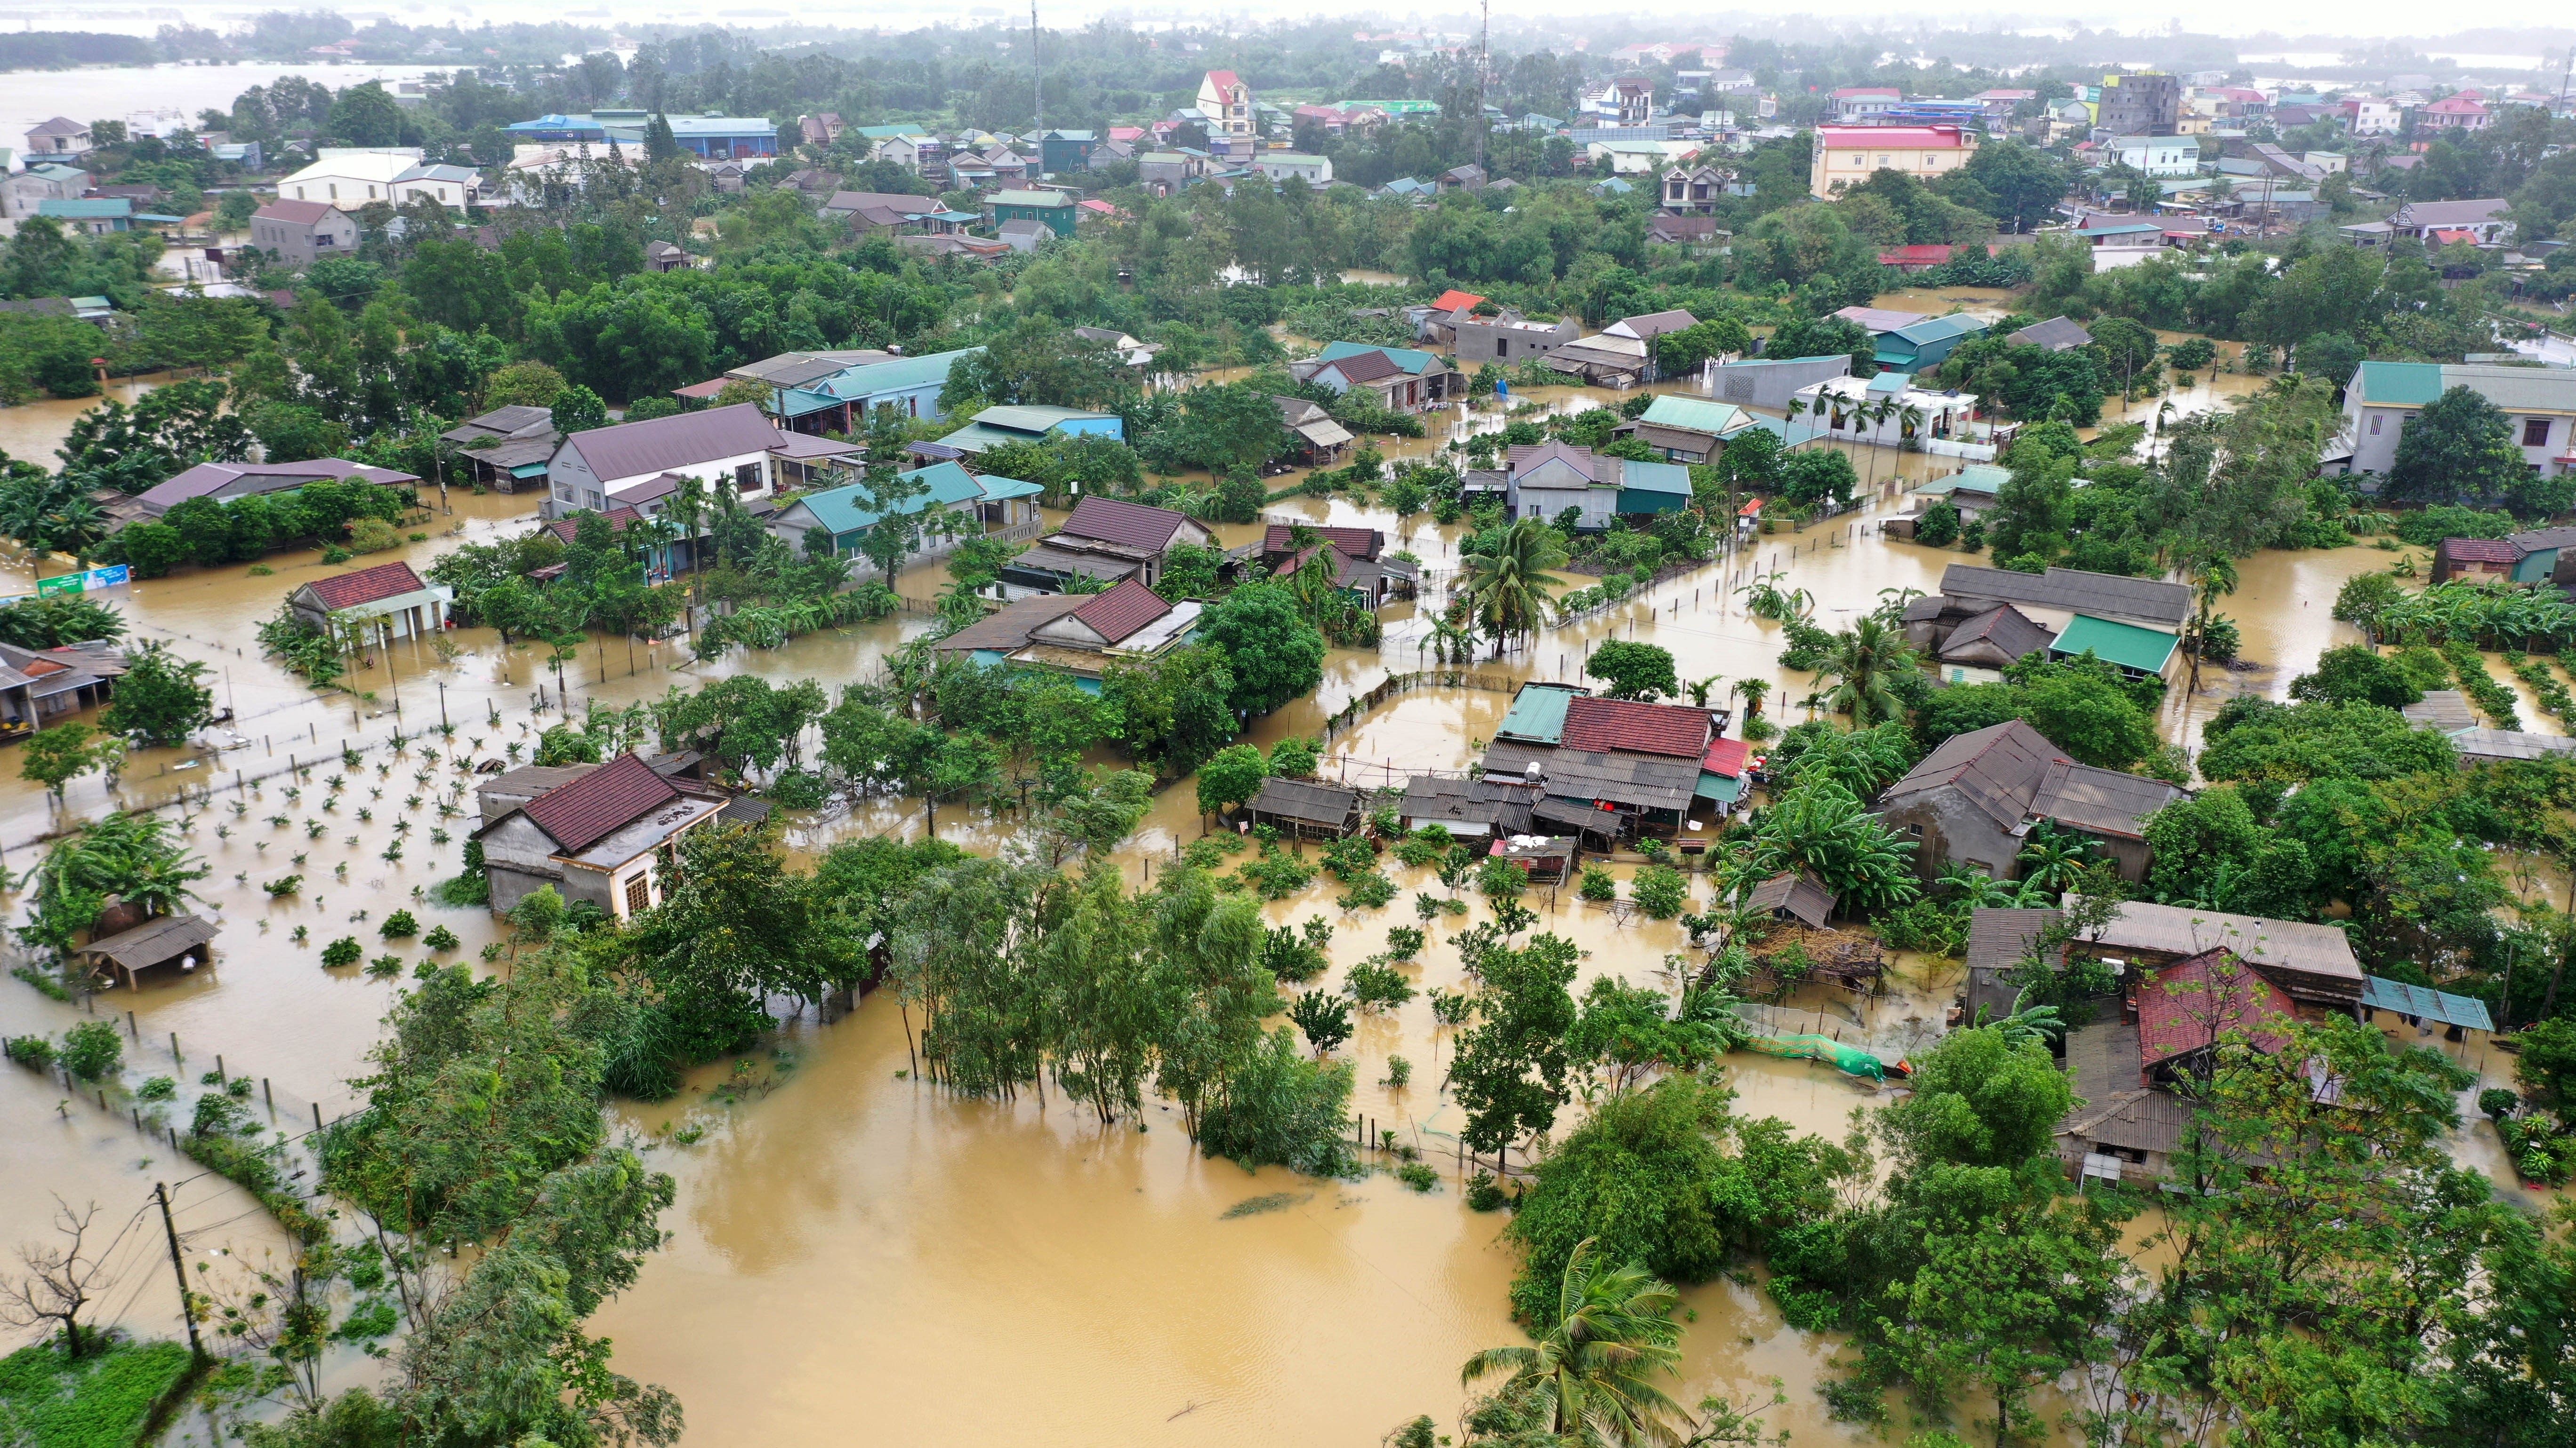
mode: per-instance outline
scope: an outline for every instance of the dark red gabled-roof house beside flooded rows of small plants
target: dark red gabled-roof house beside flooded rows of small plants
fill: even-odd
[[[724,812],[724,796],[683,791],[631,752],[582,768],[474,830],[492,910],[554,886],[564,904],[634,920],[662,904],[680,837]]]

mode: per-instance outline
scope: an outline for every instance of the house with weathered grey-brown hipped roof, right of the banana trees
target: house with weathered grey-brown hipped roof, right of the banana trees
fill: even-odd
[[[1965,863],[2020,876],[2030,827],[2048,819],[2099,845],[2120,879],[2141,881],[2154,853],[2143,819],[2184,791],[2156,778],[2079,765],[2020,719],[1953,734],[1878,796],[1878,819],[1914,840],[1914,873]]]

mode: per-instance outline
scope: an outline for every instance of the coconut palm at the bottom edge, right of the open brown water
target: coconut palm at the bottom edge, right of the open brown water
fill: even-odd
[[[1556,1322],[1528,1348],[1486,1348],[1458,1371],[1461,1384],[1504,1373],[1502,1391],[1525,1391],[1548,1409],[1551,1440],[1625,1445],[1680,1443],[1682,1404],[1649,1378],[1680,1373],[1680,1293],[1643,1268],[1605,1268],[1587,1237],[1566,1257]]]

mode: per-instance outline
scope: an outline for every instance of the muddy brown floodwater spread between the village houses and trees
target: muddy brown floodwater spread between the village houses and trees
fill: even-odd
[[[1515,397],[1520,402],[1579,410],[1615,402],[1615,394],[1540,389]],[[1453,438],[1499,428],[1504,412],[1486,407],[1430,423],[1430,438],[1394,443],[1388,456],[1430,456]],[[1891,479],[1945,472],[1945,461],[1870,448],[1852,459],[1873,482],[1862,513],[1752,538],[1692,575],[1551,629],[1504,660],[1479,657],[1473,672],[1504,685],[1577,678],[1597,642],[1636,636],[1669,647],[1685,678],[1718,675],[1713,698],[1731,680],[1765,678],[1775,685],[1767,711],[1803,719],[1798,698],[1814,680],[1780,670],[1777,624],[1749,618],[1734,587],[1757,572],[1783,572],[1788,587],[1814,595],[1824,626],[1844,626],[1875,608],[1883,590],[1935,590],[1947,564],[1965,562],[1958,551],[1875,536],[1880,510],[1896,505]],[[456,538],[520,531],[536,497],[459,492],[451,508],[422,528],[428,538],[366,562],[428,564]],[[1437,608],[1458,567],[1461,528],[1425,515],[1404,520],[1347,495],[1278,500],[1270,513],[1386,528],[1422,557],[1427,608]],[[1229,544],[1252,536],[1249,528],[1221,533]],[[2236,691],[2282,696],[2321,649],[2349,639],[2329,618],[2342,580],[2388,559],[2362,546],[2249,559],[2244,587],[2223,608],[2241,621],[2246,654],[2259,667],[2213,675],[2197,698],[2177,691],[2166,729],[2192,737]],[[64,567],[49,559],[44,572]],[[137,752],[113,788],[100,778],[77,781],[62,812],[33,786],[0,778],[0,863],[23,871],[44,832],[118,804],[185,819],[191,845],[211,868],[201,910],[224,928],[219,961],[185,982],[100,995],[93,1005],[118,1023],[134,1013],[129,1085],[175,1074],[196,1090],[196,1077],[222,1056],[232,1077],[260,1082],[252,1105],[263,1121],[301,1131],[314,1110],[332,1116],[353,1105],[348,1080],[363,1069],[402,979],[430,956],[417,940],[381,940],[386,915],[412,910],[422,930],[451,928],[461,948],[443,958],[479,961],[487,946],[500,946],[500,964],[477,969],[507,969],[507,940],[489,915],[430,904],[425,891],[459,868],[474,783],[466,768],[507,757],[510,745],[526,755],[536,732],[559,719],[551,709],[531,711],[541,696],[556,703],[556,670],[528,647],[459,629],[443,642],[397,644],[350,678],[348,691],[314,693],[258,654],[252,629],[291,587],[327,569],[309,551],[265,559],[265,575],[242,567],[188,572],[116,595],[139,636],[165,639],[219,670],[219,701],[237,709],[234,729],[247,745],[222,755]],[[15,569],[15,580],[5,569]],[[920,567],[896,582],[904,595],[927,600],[943,577],[938,567]],[[0,564],[0,593],[26,587],[26,559]],[[685,642],[634,652],[592,642],[562,678],[574,703],[631,703],[726,672],[819,678],[837,688],[873,675],[889,649],[927,626],[927,616],[899,613],[714,665],[693,662]],[[1270,745],[1321,732],[1334,711],[1386,675],[1422,667],[1419,636],[1417,608],[1399,605],[1381,649],[1332,652],[1316,696],[1255,721],[1249,737]],[[1399,693],[1334,734],[1327,773],[1383,783],[1409,770],[1461,768],[1481,752],[1507,703],[1507,693],[1473,688]],[[456,737],[422,737],[440,709]],[[389,742],[394,729],[412,737],[402,752]],[[343,747],[358,747],[361,760],[343,763]],[[283,773],[289,755],[307,765],[301,778]],[[914,804],[842,801],[788,817],[786,840],[819,850],[876,830],[917,837],[925,824]],[[951,812],[938,827],[948,840],[994,850],[1007,843],[1012,819]],[[1193,786],[1180,781],[1157,799],[1118,863],[1131,884],[1144,884],[1146,871],[1198,830]],[[289,873],[301,876],[301,886],[273,899],[263,884]],[[1391,873],[1406,891],[1437,891],[1427,871]],[[1628,876],[1628,868],[1615,873]],[[1316,884],[1270,907],[1283,925],[1311,915],[1334,922],[1337,974],[1327,987],[1352,961],[1381,951],[1388,925],[1412,920],[1401,897],[1388,910],[1342,917],[1334,891]],[[1692,891],[1705,899],[1705,879],[1695,879]],[[23,899],[10,907],[23,910]],[[1468,917],[1440,922],[1406,969],[1414,984],[1458,987],[1463,971],[1448,940],[1458,925],[1484,917],[1479,902]],[[1669,922],[1623,925],[1607,910],[1577,904],[1571,891],[1548,910],[1546,925],[1589,951],[1587,979],[1662,979],[1664,956],[1685,946]],[[392,956],[397,969],[322,969],[322,946],[340,935],[358,938],[374,958]],[[1919,1036],[1937,1025],[1953,989],[1955,966],[1909,964],[1899,995],[1860,1013],[1811,992],[1788,1002],[1785,1015],[1801,1028]],[[80,1007],[0,984],[5,1033],[59,1033],[75,1020]],[[170,1036],[178,1036],[180,1059],[170,1054]],[[1347,1049],[1358,1067],[1355,1108],[1440,1167],[1440,1188],[1417,1196],[1386,1175],[1314,1183],[1198,1159],[1159,1105],[1146,1110],[1144,1131],[1105,1131],[1064,1103],[1041,1110],[1036,1100],[943,1098],[902,1074],[904,1028],[881,997],[835,1025],[786,1018],[775,1051],[696,1072],[675,1103],[616,1108],[680,1177],[680,1201],[667,1216],[670,1250],[600,1314],[598,1332],[616,1340],[621,1371],[680,1394],[696,1443],[842,1443],[853,1404],[866,1404],[873,1438],[886,1443],[1043,1435],[1048,1443],[1311,1445],[1370,1443],[1417,1412],[1453,1422],[1458,1363],[1520,1335],[1504,1317],[1515,1257],[1497,1244],[1502,1219],[1466,1211],[1458,1196],[1458,1110],[1440,1092],[1448,1051],[1448,1033],[1419,997],[1365,1018]],[[1412,1062],[1409,1087],[1383,1085],[1391,1056]],[[2496,1062],[2473,1064],[2486,1069],[2481,1085],[2504,1074]],[[1855,1105],[1883,1100],[1824,1067],[1767,1056],[1736,1056],[1728,1067],[1741,1113],[1783,1116],[1801,1131],[1839,1136]],[[1574,1116],[1569,1110],[1566,1123]],[[683,1147],[675,1131],[690,1126],[701,1134]],[[183,1183],[180,1229],[193,1257],[222,1265],[222,1255],[242,1260],[276,1247],[276,1232],[247,1198],[175,1159],[162,1126],[137,1129],[121,1105],[103,1110],[31,1072],[5,1069],[0,1131],[10,1165],[21,1167],[0,1183],[0,1239],[39,1237],[52,1193],[75,1203],[95,1198],[103,1219],[124,1224],[149,1201],[155,1180],[173,1180]],[[2468,1126],[2455,1152],[2514,1190],[2491,1126]],[[1260,1211],[1236,1211],[1244,1203]],[[167,1257],[137,1247],[155,1242],[144,1226],[149,1221],[118,1244],[113,1301],[129,1327],[170,1332]],[[1850,1427],[1824,1420],[1816,1396],[1837,1348],[1832,1337],[1785,1329],[1752,1286],[1721,1281],[1687,1291],[1685,1301],[1695,1319],[1685,1337],[1687,1384],[1674,1396],[1767,1396],[1765,1384],[1780,1378],[1790,1402],[1770,1412],[1772,1427],[1795,1430],[1801,1443],[1857,1440]],[[332,1363],[330,1378],[353,1384],[374,1371],[350,1355]]]

